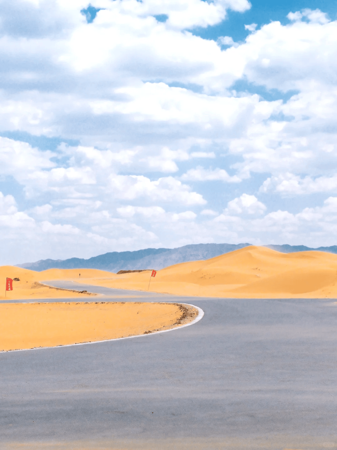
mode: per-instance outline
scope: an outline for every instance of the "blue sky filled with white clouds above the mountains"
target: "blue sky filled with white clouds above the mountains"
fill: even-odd
[[[0,264],[335,245],[337,1],[0,0]]]

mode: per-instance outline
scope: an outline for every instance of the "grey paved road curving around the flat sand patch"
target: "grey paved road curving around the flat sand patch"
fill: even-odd
[[[105,300],[128,295],[91,288],[101,289]],[[203,319],[152,336],[1,353],[0,448],[337,448],[334,301],[178,298]]]

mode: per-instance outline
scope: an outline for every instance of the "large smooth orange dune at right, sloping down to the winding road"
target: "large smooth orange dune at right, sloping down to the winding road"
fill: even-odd
[[[92,278],[96,285],[147,290],[150,271]],[[337,255],[279,253],[245,247],[206,261],[177,264],[157,272],[150,291],[206,297],[337,297]]]

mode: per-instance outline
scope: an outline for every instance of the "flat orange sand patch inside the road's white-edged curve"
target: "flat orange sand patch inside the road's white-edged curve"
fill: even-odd
[[[179,303],[3,303],[0,351],[150,334],[187,324],[197,316],[197,308]]]

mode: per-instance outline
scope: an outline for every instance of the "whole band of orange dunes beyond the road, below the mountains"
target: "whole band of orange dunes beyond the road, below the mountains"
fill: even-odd
[[[79,273],[81,274],[79,278]],[[116,275],[91,269],[43,272],[0,267],[0,280],[13,282],[7,299],[86,297],[85,293],[44,287],[40,281],[73,280],[107,288],[147,291],[150,270]],[[229,298],[335,298],[337,255],[325,252],[279,253],[266,247],[245,247],[206,261],[193,261],[159,270],[150,292],[180,296]],[[4,300],[1,292],[0,300]]]

